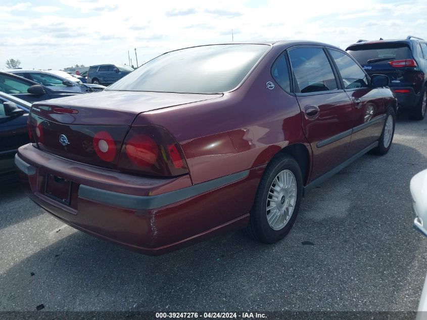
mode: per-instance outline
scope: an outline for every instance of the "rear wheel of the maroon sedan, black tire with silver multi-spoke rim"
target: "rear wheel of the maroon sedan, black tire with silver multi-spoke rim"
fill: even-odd
[[[246,233],[266,244],[283,239],[297,218],[302,192],[303,179],[297,161],[289,155],[273,158],[259,183]]]

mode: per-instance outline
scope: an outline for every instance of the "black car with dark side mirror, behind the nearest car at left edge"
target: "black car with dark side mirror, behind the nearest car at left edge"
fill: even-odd
[[[8,72],[0,72],[0,92],[28,102],[49,100],[82,94],[66,90],[51,90],[35,81]]]

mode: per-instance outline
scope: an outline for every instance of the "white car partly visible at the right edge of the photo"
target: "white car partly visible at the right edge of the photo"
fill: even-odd
[[[411,195],[414,208],[414,228],[427,237],[427,169],[418,172],[411,179]],[[417,320],[427,319],[427,276],[419,299]]]

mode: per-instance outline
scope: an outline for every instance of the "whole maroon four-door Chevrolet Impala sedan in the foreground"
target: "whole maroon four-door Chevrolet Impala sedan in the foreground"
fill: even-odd
[[[388,81],[318,42],[177,50],[104,92],[33,104],[16,164],[55,217],[146,254],[241,228],[274,243],[309,189],[388,152]]]

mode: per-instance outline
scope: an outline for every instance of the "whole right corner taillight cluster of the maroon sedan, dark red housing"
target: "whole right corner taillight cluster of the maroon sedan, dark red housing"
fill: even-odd
[[[169,132],[157,126],[130,129],[118,167],[121,171],[155,176],[188,173],[180,146]]]

